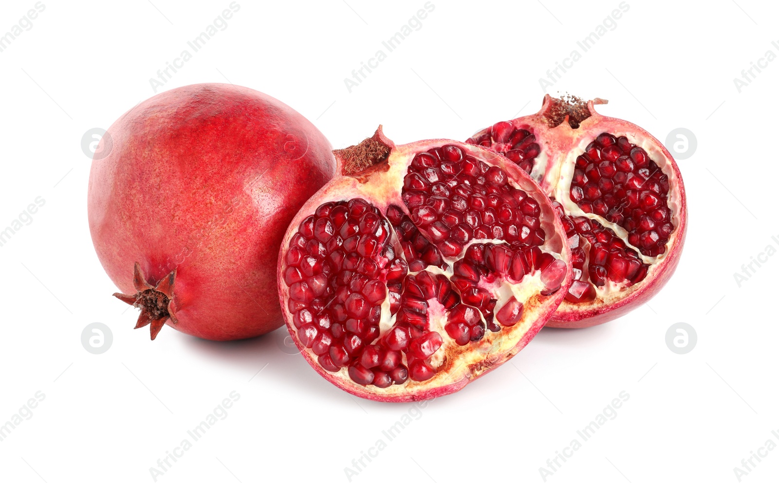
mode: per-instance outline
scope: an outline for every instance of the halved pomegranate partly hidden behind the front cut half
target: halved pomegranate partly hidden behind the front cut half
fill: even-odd
[[[679,167],[647,131],[595,112],[607,102],[547,95],[538,114],[467,140],[530,173],[562,217],[574,280],[549,327],[590,327],[628,313],[668,282],[682,254]]]

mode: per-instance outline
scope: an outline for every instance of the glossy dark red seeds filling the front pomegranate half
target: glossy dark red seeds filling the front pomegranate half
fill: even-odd
[[[284,265],[301,344],[327,371],[347,367],[355,383],[382,388],[435,376],[444,337],[462,346],[520,322],[523,304],[511,297],[495,312],[482,282],[541,271],[551,294],[566,275],[539,247],[538,202],[456,145],[414,156],[401,191],[407,211],[390,205],[382,215],[361,198],[320,205],[298,226]],[[469,244],[480,239],[491,241]],[[445,257],[458,259],[450,266]],[[385,302],[394,319],[380,333]],[[429,330],[433,306],[446,312],[446,334]]]

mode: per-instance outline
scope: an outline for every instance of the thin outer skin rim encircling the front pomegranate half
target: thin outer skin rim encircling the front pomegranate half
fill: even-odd
[[[390,163],[390,165],[394,165],[396,163],[401,164],[404,166],[404,169],[411,163],[411,159],[413,159],[414,154],[417,152],[423,152],[432,146],[446,144],[458,145],[465,152],[477,156],[479,159],[488,159],[493,166],[499,166],[502,168],[502,170],[505,170],[506,173],[508,173],[509,176],[512,177],[512,179],[515,180],[515,182],[519,184],[519,186],[524,191],[527,191],[527,193],[530,194],[534,194],[534,199],[536,199],[536,201],[538,201],[539,205],[541,206],[541,212],[544,213],[546,217],[551,219],[552,224],[555,226],[555,234],[552,235],[550,233],[549,236],[555,238],[555,240],[559,240],[557,243],[559,244],[559,250],[561,252],[562,259],[566,261],[566,263],[570,260],[570,249],[567,243],[562,242],[563,238],[560,236],[561,233],[565,233],[565,230],[562,228],[560,219],[553,215],[554,208],[552,208],[551,202],[544,194],[541,193],[541,188],[538,186],[538,184],[536,184],[535,181],[527,175],[527,173],[516,166],[516,164],[509,161],[509,159],[506,159],[502,155],[492,152],[491,149],[485,149],[480,146],[467,145],[461,142],[453,141],[451,139],[428,139],[425,141],[411,142],[405,145],[395,145],[394,142],[392,142],[389,138],[386,138],[386,136],[383,134],[381,126],[379,126],[379,130],[376,131],[375,137],[379,138],[384,145],[391,149],[388,163]],[[367,201],[370,201],[373,205],[379,207],[382,213],[386,212],[386,208],[393,201],[398,206],[403,206],[403,202],[400,201],[400,198],[382,198],[382,196],[386,194],[386,192],[382,192],[382,187],[372,187],[369,184],[365,184],[370,179],[370,177],[372,177],[372,174],[370,173],[372,169],[373,168],[368,168],[368,170],[366,170],[365,177],[354,177],[348,175],[336,175],[333,177],[332,180],[330,180],[322,189],[320,189],[314,196],[312,196],[312,198],[309,199],[305,205],[303,205],[303,207],[300,209],[300,212],[298,212],[298,214],[294,217],[290,223],[289,229],[287,229],[287,234],[284,236],[282,247],[287,247],[287,243],[289,243],[291,237],[298,231],[298,225],[300,222],[305,219],[306,216],[310,215],[312,212],[315,212],[316,208],[321,203],[323,203],[323,201],[361,197],[365,198]],[[402,180],[400,180],[399,183],[402,184]],[[390,187],[390,190],[393,189],[394,187]],[[509,350],[506,350],[506,352],[492,352],[488,355],[485,355],[485,357],[478,363],[467,365],[466,369],[460,370],[460,372],[454,374],[450,374],[449,378],[451,379],[451,382],[435,386],[430,383],[431,381],[425,381],[424,383],[414,383],[413,381],[409,380],[407,384],[416,384],[417,387],[402,393],[386,394],[382,390],[377,390],[377,388],[374,386],[361,386],[358,383],[354,383],[351,379],[349,379],[348,376],[345,376],[344,373],[330,373],[326,371],[322,366],[319,365],[315,355],[313,355],[309,349],[305,348],[305,345],[301,344],[298,339],[297,331],[294,328],[293,315],[289,312],[289,310],[287,310],[289,289],[287,288],[287,285],[284,284],[284,276],[282,274],[282,271],[284,270],[284,257],[286,253],[287,250],[280,250],[278,257],[278,296],[282,305],[284,320],[287,323],[287,331],[289,331],[291,339],[294,341],[298,351],[301,353],[301,355],[303,355],[308,364],[312,366],[312,368],[317,373],[319,373],[319,376],[323,376],[323,378],[328,380],[330,383],[333,383],[335,386],[340,387],[340,389],[347,391],[347,393],[379,402],[425,401],[439,396],[446,396],[446,394],[452,394],[462,389],[468,383],[471,383],[479,377],[484,376],[486,373],[492,372],[493,369],[502,365],[504,362],[508,361],[514,355],[520,352],[535,337],[535,335],[538,334],[538,331],[544,327],[549,317],[552,317],[552,314],[555,313],[555,310],[566,296],[566,292],[568,292],[571,282],[573,282],[573,276],[569,270],[566,273],[566,278],[562,282],[561,288],[551,296],[548,296],[548,302],[545,303],[545,306],[539,306],[536,309],[536,320],[534,320],[534,323],[528,328],[522,337],[516,341],[516,344],[509,348]]]

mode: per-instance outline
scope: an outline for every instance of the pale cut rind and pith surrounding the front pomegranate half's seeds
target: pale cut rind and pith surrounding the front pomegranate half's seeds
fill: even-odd
[[[450,139],[430,139],[420,142],[414,142],[407,145],[394,145],[389,139],[386,139],[379,128],[375,138],[382,139],[386,145],[390,146],[390,155],[386,159],[386,166],[372,166],[365,176],[337,176],[328,184],[320,189],[305,205],[301,208],[298,215],[295,216],[284,240],[281,243],[282,250],[279,255],[278,264],[278,289],[281,301],[284,320],[287,323],[287,330],[297,346],[298,350],[305,357],[306,361],[320,376],[330,381],[337,387],[346,390],[350,394],[358,397],[364,397],[372,401],[388,402],[407,402],[423,401],[434,397],[452,394],[462,389],[467,383],[477,379],[480,376],[492,371],[503,362],[511,359],[513,355],[520,352],[527,343],[534,338],[535,334],[544,327],[545,323],[552,317],[555,310],[562,303],[568,288],[573,282],[572,272],[569,268],[570,249],[566,242],[565,231],[562,223],[554,214],[551,202],[541,192],[538,184],[532,180],[527,173],[520,170],[518,166],[511,163],[505,157],[488,149],[483,149],[474,145],[466,145],[462,142],[456,142]],[[492,166],[499,166],[509,174],[509,178],[516,187],[526,191],[538,201],[541,207],[539,219],[545,220],[545,226],[548,228],[548,240],[545,246],[549,250],[554,250],[562,261],[565,261],[568,270],[566,276],[560,285],[560,289],[549,296],[541,296],[540,292],[530,299],[524,300],[523,321],[511,327],[501,327],[501,331],[491,333],[497,334],[492,339],[486,335],[481,341],[471,342],[464,347],[458,347],[449,338],[446,332],[440,326],[439,334],[445,339],[442,346],[443,353],[437,355],[445,362],[439,366],[439,370],[431,379],[425,381],[407,380],[406,383],[396,384],[386,388],[379,388],[372,385],[363,386],[355,383],[347,375],[347,367],[341,368],[338,372],[331,373],[323,369],[317,361],[317,356],[311,349],[306,348],[298,339],[298,331],[294,327],[293,313],[287,306],[289,299],[289,288],[284,283],[282,271],[284,270],[284,257],[286,248],[289,247],[290,240],[295,233],[298,233],[299,223],[315,212],[319,205],[327,201],[346,201],[353,198],[364,198],[375,207],[379,208],[382,214],[386,214],[386,209],[390,205],[404,207],[401,198],[400,187],[403,184],[404,175],[407,173],[408,166],[414,156],[420,152],[425,152],[442,145],[457,145],[464,152],[478,159],[483,159]],[[340,162],[340,159],[339,159]],[[406,208],[404,208],[406,209]],[[396,236],[393,233],[393,237]],[[487,242],[488,240],[478,240]],[[548,244],[547,244],[548,243]],[[450,274],[449,274],[450,275]],[[501,306],[496,306],[499,310]],[[530,315],[528,315],[530,314]],[[389,314],[388,314],[389,315]],[[382,319],[385,317],[382,307]],[[436,329],[438,330],[438,329]],[[482,343],[483,342],[483,343]]]

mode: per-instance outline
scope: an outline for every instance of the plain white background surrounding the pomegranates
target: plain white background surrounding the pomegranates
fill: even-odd
[[[160,90],[249,86],[300,111],[336,148],[378,124],[398,143],[463,140],[537,110],[538,79],[576,49],[582,58],[549,93],[606,98],[602,114],[663,142],[675,128],[696,135],[694,154],[679,159],[689,199],[684,256],[658,296],[599,327],[545,329],[495,372],[418,408],[332,386],[287,354],[284,329],[233,343],[171,327],[152,343],[148,329],[132,331],[137,315],[111,297],[90,240],[81,138],[152,96],[149,79],[230,4],[152,2],[44,0],[32,28],[0,52],[0,229],[45,199],[0,247],[0,425],[45,394],[0,442],[0,481],[153,481],[150,467],[231,391],[240,399],[227,418],[157,481],[348,481],[344,468],[410,411],[418,418],[352,481],[543,481],[539,467],[581,441],[576,430],[621,391],[629,400],[617,416],[547,481],[738,481],[742,458],[767,439],[779,443],[771,434],[779,432],[779,257],[740,287],[734,278],[768,245],[779,247],[779,61],[741,93],[733,82],[768,50],[779,54],[777,5],[628,0],[616,28],[582,52],[576,41],[618,0],[432,0],[421,29],[349,93],[344,78],[423,0],[238,0],[226,30]],[[0,35],[34,3],[2,2]],[[113,333],[102,355],[81,343],[94,322]],[[686,355],[665,343],[677,322],[697,333]],[[742,481],[777,474],[773,450]]]

